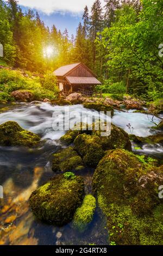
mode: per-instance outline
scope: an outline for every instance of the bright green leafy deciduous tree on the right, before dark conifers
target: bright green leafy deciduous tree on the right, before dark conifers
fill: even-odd
[[[151,100],[162,96],[162,58],[158,55],[162,22],[162,1],[142,0],[140,9],[124,3],[97,39],[107,50],[109,78],[128,82],[130,93],[149,92]]]

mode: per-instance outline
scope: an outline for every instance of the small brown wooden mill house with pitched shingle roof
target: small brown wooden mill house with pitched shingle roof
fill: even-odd
[[[80,92],[88,96],[92,94],[93,87],[101,84],[97,76],[83,63],[61,66],[53,74],[57,77],[60,91],[66,95]]]

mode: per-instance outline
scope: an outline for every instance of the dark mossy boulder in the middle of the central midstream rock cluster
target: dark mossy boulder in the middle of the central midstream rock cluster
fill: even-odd
[[[85,133],[78,135],[74,140],[74,149],[82,156],[83,162],[91,167],[97,166],[99,160],[104,156],[101,139]]]

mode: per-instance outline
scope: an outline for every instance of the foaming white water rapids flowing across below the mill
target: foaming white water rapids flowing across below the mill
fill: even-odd
[[[49,103],[23,103],[20,106],[0,114],[0,124],[6,121],[16,121],[24,129],[30,130],[34,133],[39,133],[42,138],[57,140],[66,131],[53,130],[53,122],[57,119],[58,122],[62,121],[62,114],[68,110],[75,111],[79,115],[76,117],[77,122],[80,121],[81,114],[84,116],[84,121],[91,123],[92,116],[95,120],[99,118],[99,113],[91,109],[86,109],[82,105],[72,106],[52,106]],[[58,111],[62,112],[57,117]],[[73,121],[73,118],[71,118]],[[67,119],[68,121],[68,119]],[[114,117],[111,119],[112,123],[121,127],[128,133],[133,133],[136,136],[147,137],[153,135],[155,131],[151,129],[154,124],[152,123],[152,115],[143,113],[121,112],[114,111]],[[160,119],[154,117],[154,123],[159,123]],[[129,130],[127,125],[133,127],[132,131]]]

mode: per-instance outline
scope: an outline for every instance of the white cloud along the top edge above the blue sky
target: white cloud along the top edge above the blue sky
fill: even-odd
[[[77,15],[83,13],[85,5],[90,9],[93,2],[95,0],[18,0],[20,5],[40,10],[47,15],[57,12],[62,14],[69,12]],[[104,0],[101,2],[103,6]]]

